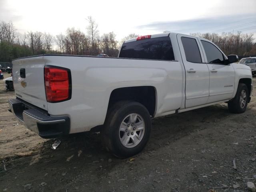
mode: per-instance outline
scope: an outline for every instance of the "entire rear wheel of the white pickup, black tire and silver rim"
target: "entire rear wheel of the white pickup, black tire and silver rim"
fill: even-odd
[[[112,154],[127,158],[139,153],[150,136],[151,118],[142,104],[117,102],[108,110],[104,124],[104,144]]]

